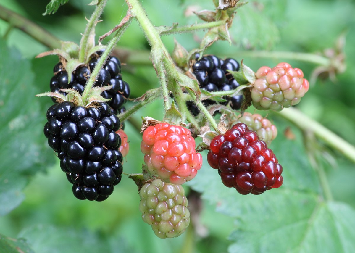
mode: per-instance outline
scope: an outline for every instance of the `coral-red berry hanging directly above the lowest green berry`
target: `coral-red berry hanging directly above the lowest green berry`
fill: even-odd
[[[164,182],[178,185],[194,178],[202,166],[202,156],[195,147],[189,129],[168,123],[148,126],[141,142],[149,171]]]

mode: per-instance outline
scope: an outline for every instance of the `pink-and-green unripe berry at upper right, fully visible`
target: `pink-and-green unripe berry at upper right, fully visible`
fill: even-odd
[[[302,70],[291,68],[288,63],[261,67],[251,89],[253,106],[258,110],[281,111],[298,104],[309,88],[303,77]]]

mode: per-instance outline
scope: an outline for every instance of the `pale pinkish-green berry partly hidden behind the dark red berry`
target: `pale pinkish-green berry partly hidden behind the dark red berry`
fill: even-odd
[[[238,116],[238,120],[235,123],[245,123],[250,130],[256,131],[260,140],[265,141],[267,145],[270,145],[271,141],[277,136],[276,126],[270,120],[257,113],[245,112],[243,115]]]

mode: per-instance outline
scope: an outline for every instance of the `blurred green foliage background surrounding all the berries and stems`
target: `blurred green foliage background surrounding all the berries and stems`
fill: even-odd
[[[55,14],[42,16],[48,0],[2,0],[0,5],[45,28],[62,41],[79,43],[90,1],[70,0]],[[192,10],[213,10],[212,1],[143,1],[155,26],[201,22]],[[108,1],[97,25],[100,36],[125,16],[125,1]],[[297,106],[355,145],[355,1],[260,0],[241,7],[230,29],[232,44],[215,42],[206,54],[244,59],[253,70],[288,61],[304,71],[310,91]],[[163,36],[169,52],[174,38],[187,50],[197,48],[204,32]],[[346,69],[312,79],[320,65],[285,52],[323,55],[335,52],[345,36]],[[107,42],[107,39],[104,43]],[[133,21],[121,37],[118,57],[126,63],[123,79],[131,97],[159,86],[149,61],[149,44]],[[129,49],[129,54],[124,52]],[[49,90],[57,56],[34,57],[49,50],[11,24],[0,20],[0,252],[10,238],[24,252],[355,252],[355,166],[323,142],[304,139],[301,131],[278,114],[269,119],[279,135],[271,148],[284,167],[284,185],[259,196],[242,196],[225,188],[207,161],[196,178],[184,185],[190,194],[192,220],[174,239],[155,237],[141,219],[137,187],[124,176],[103,202],[79,201],[43,136],[50,98],[34,95]],[[333,51],[332,51],[333,50]],[[274,52],[273,56],[269,52]],[[127,103],[126,107],[131,104]],[[124,172],[139,173],[143,163],[141,117],[163,118],[163,101],[136,113],[126,123],[130,152]],[[251,112],[257,112],[250,109]],[[258,112],[260,113],[260,112]],[[264,113],[264,115],[266,115]],[[296,138],[286,139],[291,129]],[[308,149],[306,149],[308,145]],[[207,153],[204,153],[205,157]],[[139,157],[139,158],[138,158]],[[315,158],[311,163],[309,157]],[[311,160],[312,161],[312,160]],[[326,172],[333,200],[324,199],[317,169]],[[193,189],[193,190],[192,190]],[[200,194],[202,193],[202,198]],[[15,243],[15,244],[16,244]],[[16,244],[17,245],[17,244]],[[1,248],[3,247],[3,248]],[[15,252],[15,251],[14,251]]]

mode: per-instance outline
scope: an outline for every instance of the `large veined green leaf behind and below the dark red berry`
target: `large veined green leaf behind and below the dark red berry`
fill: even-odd
[[[290,127],[279,118],[279,131]],[[354,252],[355,210],[325,200],[316,171],[307,160],[302,135],[295,140],[279,135],[270,146],[283,166],[284,184],[261,195],[240,195],[226,188],[216,170],[204,161],[194,180],[186,184],[233,217],[236,229],[229,252]]]

